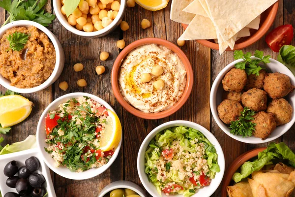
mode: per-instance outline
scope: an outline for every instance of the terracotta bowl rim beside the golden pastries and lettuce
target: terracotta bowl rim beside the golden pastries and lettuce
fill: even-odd
[[[253,150],[250,150],[236,158],[236,160],[230,165],[228,170],[226,171],[223,180],[222,180],[222,188],[221,188],[221,197],[227,197],[226,187],[231,185],[233,182],[232,177],[235,174],[235,172],[239,169],[239,167],[244,164],[245,162],[251,160],[252,158],[258,156],[258,153],[261,151],[264,151],[266,147],[264,148],[256,148]]]

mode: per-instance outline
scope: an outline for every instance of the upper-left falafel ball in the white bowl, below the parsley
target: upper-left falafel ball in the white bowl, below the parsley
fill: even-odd
[[[242,92],[247,82],[245,70],[232,68],[222,79],[223,89],[225,91]]]

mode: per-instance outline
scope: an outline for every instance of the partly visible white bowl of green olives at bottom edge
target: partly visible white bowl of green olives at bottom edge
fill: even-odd
[[[98,197],[146,197],[146,194],[131,181],[116,181],[107,185]]]

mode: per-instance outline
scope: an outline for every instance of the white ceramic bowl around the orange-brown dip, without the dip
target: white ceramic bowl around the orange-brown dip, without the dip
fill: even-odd
[[[54,67],[54,70],[53,70],[52,74],[50,75],[50,77],[39,86],[36,86],[33,88],[17,88],[15,86],[11,86],[10,81],[7,80],[6,78],[4,78],[0,74],[0,84],[2,86],[4,86],[5,88],[7,88],[9,90],[17,92],[17,93],[29,94],[29,93],[38,92],[40,90],[47,88],[48,86],[53,84],[59,78],[59,75],[61,74],[63,66],[64,66],[64,53],[63,53],[63,49],[62,49],[62,46],[61,46],[58,38],[52,32],[50,32],[46,27],[44,27],[43,25],[40,25],[39,23],[33,22],[33,21],[26,21],[26,20],[14,21],[12,23],[5,25],[4,27],[0,28],[0,38],[2,38],[2,35],[7,30],[14,28],[14,27],[23,27],[23,26],[24,27],[34,26],[34,27],[38,28],[39,30],[41,30],[42,32],[44,32],[51,40],[51,42],[55,48],[55,51],[56,51],[56,65]]]

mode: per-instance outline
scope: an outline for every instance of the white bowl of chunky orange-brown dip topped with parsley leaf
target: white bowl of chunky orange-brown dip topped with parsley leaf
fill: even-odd
[[[57,37],[32,21],[14,21],[0,30],[0,84],[18,93],[33,93],[54,83],[64,53]]]

